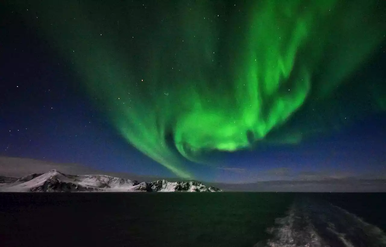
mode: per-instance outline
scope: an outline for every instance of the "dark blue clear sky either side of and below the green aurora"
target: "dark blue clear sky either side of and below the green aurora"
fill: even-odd
[[[84,93],[71,62],[39,39],[37,30],[10,7],[1,14],[1,156],[174,176],[119,135]],[[367,65],[369,77],[379,73],[374,66],[385,68],[384,47]],[[385,81],[384,74],[378,76]],[[386,175],[385,126],[384,113],[371,113],[298,145],[257,144],[253,151],[213,154],[210,166],[190,166],[199,179],[225,182]]]

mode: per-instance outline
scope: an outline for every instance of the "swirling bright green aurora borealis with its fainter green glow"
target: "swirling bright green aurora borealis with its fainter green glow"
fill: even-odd
[[[384,1],[8,5],[120,135],[179,177],[386,110],[382,69],[368,71],[384,50]]]

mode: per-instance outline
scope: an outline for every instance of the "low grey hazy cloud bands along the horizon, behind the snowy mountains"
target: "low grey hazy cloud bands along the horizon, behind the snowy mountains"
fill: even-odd
[[[234,173],[248,173],[247,169],[238,167],[217,167],[220,170]],[[54,163],[39,161],[36,159],[19,157],[0,157],[0,176],[20,178],[32,173],[46,173],[52,169],[58,169],[66,174],[105,174],[137,181],[154,181],[167,179],[169,181],[181,181],[178,178],[159,178],[152,176],[140,176],[130,173],[108,172],[80,164]],[[302,171],[294,173],[287,167],[269,169],[259,174],[251,174],[256,178],[254,183],[211,183],[225,191],[279,191],[279,192],[381,192],[386,191],[386,178],[380,173],[367,173],[354,176],[347,171]],[[258,181],[259,178],[281,178],[272,181]],[[205,182],[205,181],[203,181]]]

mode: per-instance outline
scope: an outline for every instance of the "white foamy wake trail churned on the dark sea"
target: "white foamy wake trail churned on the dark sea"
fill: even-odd
[[[386,247],[378,227],[330,203],[298,200],[268,228],[272,238],[254,247]]]

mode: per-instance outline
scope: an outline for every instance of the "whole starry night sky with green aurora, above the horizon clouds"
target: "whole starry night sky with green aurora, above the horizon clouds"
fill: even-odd
[[[385,1],[0,14],[0,156],[225,183],[386,177]]]

